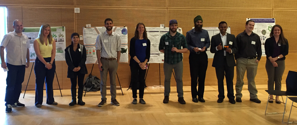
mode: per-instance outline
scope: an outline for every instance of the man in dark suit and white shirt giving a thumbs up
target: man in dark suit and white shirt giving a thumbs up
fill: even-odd
[[[227,23],[222,21],[219,23],[220,33],[211,37],[210,52],[214,53],[214,60],[212,67],[215,67],[217,79],[219,99],[218,103],[222,103],[224,95],[224,76],[227,83],[227,97],[231,104],[235,104],[234,90],[233,90],[233,77],[234,66],[236,66],[234,60],[234,53],[238,51],[236,45],[236,38],[233,34],[226,33],[228,29]]]

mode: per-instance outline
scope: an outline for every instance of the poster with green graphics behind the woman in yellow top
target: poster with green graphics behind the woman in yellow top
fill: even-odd
[[[56,42],[56,61],[63,61],[65,60],[65,51],[66,49],[66,32],[65,27],[51,27],[51,35],[53,36],[53,39]],[[26,35],[29,38],[29,42],[31,45],[31,48],[29,48],[29,56],[30,56],[30,62],[34,62],[37,55],[34,51],[34,40],[38,38],[38,34],[40,31],[40,27],[29,27],[29,28],[23,28],[23,34]]]

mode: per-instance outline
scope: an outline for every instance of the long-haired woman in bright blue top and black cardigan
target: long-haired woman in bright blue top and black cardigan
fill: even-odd
[[[132,78],[133,104],[137,104],[137,82],[139,80],[139,102],[146,104],[143,100],[144,76],[146,74],[146,64],[150,58],[151,42],[147,38],[146,27],[143,23],[138,23],[135,29],[135,36],[130,40],[130,69]]]

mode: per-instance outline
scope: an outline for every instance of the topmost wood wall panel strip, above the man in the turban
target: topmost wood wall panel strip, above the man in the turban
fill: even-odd
[[[255,8],[271,9],[272,0],[168,0],[168,8]]]

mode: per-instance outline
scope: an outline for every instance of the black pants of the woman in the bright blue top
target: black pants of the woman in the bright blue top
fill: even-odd
[[[130,70],[131,70],[131,78],[132,78],[133,98],[137,98],[137,83],[138,82],[139,82],[139,98],[143,98],[144,82],[145,82],[144,77],[146,75],[146,69],[142,70],[137,62],[130,61]]]

